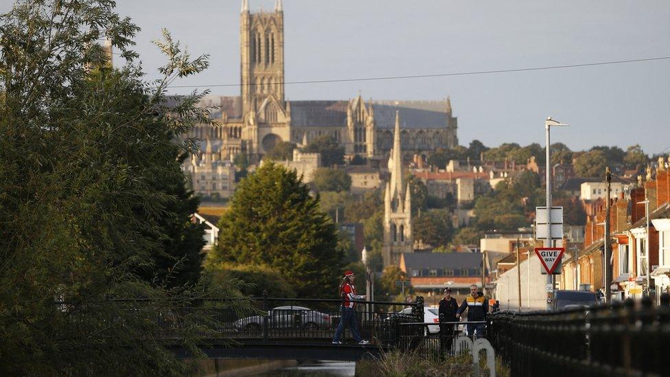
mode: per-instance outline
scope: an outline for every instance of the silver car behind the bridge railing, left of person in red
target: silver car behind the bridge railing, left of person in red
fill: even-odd
[[[234,322],[237,330],[261,330],[263,315],[253,315]],[[277,306],[268,310],[268,328],[302,328],[318,330],[330,328],[330,315],[303,306]]]

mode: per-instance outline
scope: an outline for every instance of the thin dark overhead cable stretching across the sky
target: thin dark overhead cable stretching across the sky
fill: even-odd
[[[512,69],[494,69],[491,71],[466,71],[466,72],[453,72],[453,73],[429,73],[425,75],[404,75],[404,76],[380,76],[380,77],[367,77],[367,78],[332,78],[332,79],[322,79],[322,80],[297,80],[297,81],[285,81],[285,82],[270,82],[268,84],[323,84],[328,82],[355,82],[355,81],[380,81],[380,80],[405,80],[405,79],[414,79],[414,78],[437,78],[437,77],[449,77],[449,76],[475,76],[475,75],[490,75],[494,73],[513,73],[513,72],[526,72],[526,71],[544,71],[548,69],[566,69],[566,68],[577,68],[577,67],[592,67],[596,65],[613,65],[613,64],[623,64],[623,63],[632,63],[632,62],[649,62],[654,60],[667,60],[670,59],[670,56],[657,56],[655,58],[638,58],[638,59],[628,59],[628,60],[610,60],[605,62],[591,62],[591,63],[581,63],[581,64],[570,64],[570,65],[552,65],[546,67],[529,67],[529,68],[512,68]],[[254,87],[255,83],[250,84],[211,84],[211,85],[170,85],[168,88],[196,88],[196,87]]]

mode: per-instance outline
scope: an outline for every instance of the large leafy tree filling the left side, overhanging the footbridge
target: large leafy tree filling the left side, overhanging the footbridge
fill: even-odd
[[[150,335],[156,319],[172,313],[184,326],[171,331],[196,354],[200,336],[213,335],[195,325],[200,314],[180,313],[217,292],[167,288],[198,279],[202,229],[185,215],[197,201],[180,161],[196,152],[182,138],[209,110],[195,106],[203,93],[168,107],[165,88],[207,60],[165,33],[162,78],[143,82],[128,49],[139,28],[113,8],[18,1],[0,19],[3,375],[184,375],[188,365]],[[131,65],[110,67],[104,37]],[[109,298],[157,301],[137,310]]]

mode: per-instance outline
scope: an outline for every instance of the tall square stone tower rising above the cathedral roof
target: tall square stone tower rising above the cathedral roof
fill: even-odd
[[[250,12],[249,0],[242,0],[240,14],[242,113],[256,110],[266,98],[284,108],[284,8]]]

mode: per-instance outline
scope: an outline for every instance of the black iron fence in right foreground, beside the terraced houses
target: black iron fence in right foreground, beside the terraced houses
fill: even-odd
[[[489,320],[489,340],[513,376],[670,375],[670,308],[649,299]]]

